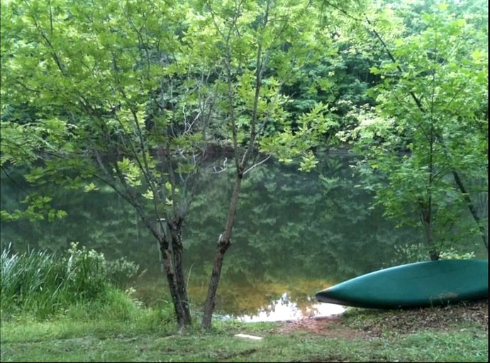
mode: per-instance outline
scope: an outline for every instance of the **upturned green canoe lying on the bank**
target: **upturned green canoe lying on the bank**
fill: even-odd
[[[358,308],[418,308],[489,296],[488,259],[442,259],[381,269],[318,291],[316,299]]]

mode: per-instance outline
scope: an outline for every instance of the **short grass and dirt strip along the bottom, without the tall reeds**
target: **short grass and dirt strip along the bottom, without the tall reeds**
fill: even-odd
[[[1,325],[1,362],[367,361],[488,362],[488,301],[419,311],[352,309],[335,319],[289,323],[216,321],[208,332],[196,323],[177,333],[172,320],[147,308],[119,320],[60,316]]]

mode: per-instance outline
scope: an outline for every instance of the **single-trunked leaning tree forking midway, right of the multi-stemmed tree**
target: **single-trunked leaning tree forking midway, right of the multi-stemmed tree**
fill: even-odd
[[[220,55],[224,72],[220,79],[226,119],[233,149],[235,182],[228,217],[216,244],[203,328],[211,327],[216,291],[225,252],[231,245],[242,181],[247,172],[270,155],[279,160],[301,158],[300,169],[313,168],[316,160],[307,151],[316,138],[335,126],[326,105],[311,104],[297,118],[285,105],[284,88],[297,81],[296,72],[317,64],[332,47],[331,35],[319,28],[315,18],[321,11],[300,0],[203,1],[202,33],[216,36],[214,52]]]

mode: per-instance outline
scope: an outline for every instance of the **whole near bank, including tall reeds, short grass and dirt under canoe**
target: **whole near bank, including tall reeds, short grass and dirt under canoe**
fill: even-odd
[[[1,362],[488,362],[488,301],[211,331],[194,313],[179,333],[171,304],[143,306],[110,283],[127,266],[93,251],[4,252],[1,267]]]

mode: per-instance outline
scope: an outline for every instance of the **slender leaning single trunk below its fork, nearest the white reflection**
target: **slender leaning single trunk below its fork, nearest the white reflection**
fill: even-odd
[[[243,172],[239,169],[237,172],[237,178],[235,180],[235,189],[233,189],[233,196],[230,201],[230,210],[228,211],[228,220],[226,222],[225,233],[221,234],[218,238],[218,245],[216,245],[216,255],[214,257],[213,271],[211,272],[211,279],[209,281],[208,296],[206,297],[206,304],[204,306],[204,315],[201,323],[201,328],[211,328],[211,320],[213,318],[214,306],[216,303],[216,291],[218,291],[218,284],[221,277],[221,268],[223,267],[223,259],[225,252],[231,245],[231,234],[233,231],[233,224],[235,223],[235,214],[238,206],[238,196],[240,194],[240,186],[242,184]]]

